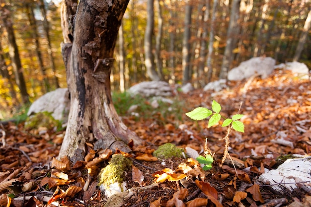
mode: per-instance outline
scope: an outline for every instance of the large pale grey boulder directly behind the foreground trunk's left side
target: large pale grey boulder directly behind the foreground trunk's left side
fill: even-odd
[[[48,92],[34,101],[27,115],[31,116],[39,112],[52,112],[54,119],[66,123],[70,109],[69,92],[67,88],[58,88]]]

